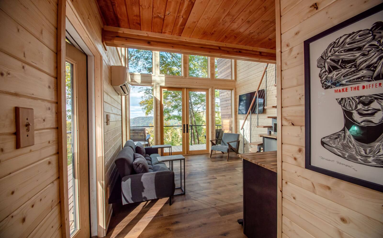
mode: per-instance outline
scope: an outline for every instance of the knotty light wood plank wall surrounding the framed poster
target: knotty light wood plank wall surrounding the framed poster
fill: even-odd
[[[381,0],[319,0],[317,10],[313,3],[280,0],[282,237],[383,237],[381,192],[304,169],[303,75],[305,39]]]

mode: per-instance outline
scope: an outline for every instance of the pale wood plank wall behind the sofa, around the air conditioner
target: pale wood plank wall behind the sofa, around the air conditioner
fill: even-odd
[[[72,2],[72,1],[71,1]],[[97,3],[95,1],[73,1],[74,10],[80,16],[85,29],[92,36],[92,41],[102,55],[103,78],[103,117],[104,117],[104,189],[105,189],[105,220],[106,227],[111,217],[112,206],[108,204],[109,194],[117,179],[117,170],[114,159],[122,148],[122,106],[121,96],[111,86],[111,65],[122,65],[121,48],[105,48],[102,44],[101,20]],[[68,6],[69,4],[67,4]],[[110,124],[106,125],[106,114],[110,114]]]

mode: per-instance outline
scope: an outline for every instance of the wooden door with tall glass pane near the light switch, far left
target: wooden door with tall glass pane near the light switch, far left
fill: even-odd
[[[90,237],[87,56],[67,42],[65,57],[70,237]]]

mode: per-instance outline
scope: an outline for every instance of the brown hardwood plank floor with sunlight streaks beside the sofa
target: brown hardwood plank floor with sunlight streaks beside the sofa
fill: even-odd
[[[107,238],[246,237],[242,218],[242,160],[231,153],[185,156],[186,194],[116,206]],[[174,163],[176,187],[179,164]],[[176,190],[177,192],[177,190]]]

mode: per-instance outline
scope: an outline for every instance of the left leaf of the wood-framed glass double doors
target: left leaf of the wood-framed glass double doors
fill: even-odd
[[[172,155],[186,153],[185,89],[160,88],[161,144],[172,145]],[[169,155],[169,149],[164,149]]]

